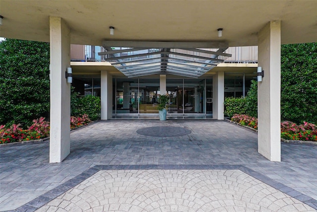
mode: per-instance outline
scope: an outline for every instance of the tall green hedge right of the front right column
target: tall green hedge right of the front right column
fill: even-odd
[[[317,124],[317,43],[282,45],[281,119]]]

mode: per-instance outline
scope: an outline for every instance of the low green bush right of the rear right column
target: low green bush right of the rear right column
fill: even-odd
[[[232,117],[233,114],[246,114],[246,99],[243,97],[226,97],[224,106],[225,116]]]

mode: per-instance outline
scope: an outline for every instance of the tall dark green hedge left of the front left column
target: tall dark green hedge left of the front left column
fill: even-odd
[[[50,44],[5,39],[0,42],[0,124],[48,116],[50,109]]]

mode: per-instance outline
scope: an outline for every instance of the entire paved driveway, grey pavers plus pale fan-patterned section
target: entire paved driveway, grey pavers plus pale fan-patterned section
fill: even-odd
[[[155,128],[151,129],[153,131],[151,135],[137,133],[138,130],[142,131],[143,128],[149,127],[161,127],[158,128],[159,134]],[[180,136],[161,136],[164,133],[172,133],[170,130],[164,131],[164,129],[172,128],[179,128],[180,130],[177,132]],[[188,133],[188,130],[191,132]],[[262,209],[314,211],[313,208],[317,209],[316,145],[282,143],[282,161],[270,162],[257,152],[256,133],[225,121],[109,120],[97,122],[72,131],[71,153],[62,163],[55,164],[49,163],[48,143],[6,146],[1,147],[0,151],[0,209],[2,211],[15,209],[34,211],[45,204],[47,205],[42,207],[41,211],[56,211],[57,209],[69,211],[71,204],[75,203],[82,203],[83,207],[86,207],[85,209],[93,211],[93,208],[98,206],[86,203],[92,204],[94,198],[108,200],[107,203],[98,201],[100,207],[103,208],[96,208],[96,210],[104,211],[110,210],[110,208],[104,207],[110,207],[111,204],[113,211],[138,211],[140,208],[145,211],[231,211],[232,209],[238,211],[244,209],[250,209],[250,211]],[[157,176],[157,180],[160,180],[160,183],[158,183],[159,181],[154,183],[154,180],[140,177],[140,182],[144,182],[140,185],[146,185],[147,182],[155,184],[155,188],[153,188],[157,190],[144,190],[145,194],[143,194],[149,196],[150,193],[147,192],[151,192],[152,196],[145,196],[144,199],[144,196],[139,194],[139,187],[135,185],[130,187],[135,188],[134,191],[138,191],[139,196],[134,196],[133,199],[132,195],[133,200],[130,201],[141,198],[142,201],[139,200],[139,205],[136,204],[138,202],[123,203],[123,199],[114,200],[110,196],[105,197],[107,194],[118,195],[116,192],[119,190],[114,189],[111,191],[112,193],[104,191],[106,188],[112,187],[119,189],[122,181],[121,195],[128,201],[127,196],[124,197],[127,195],[124,192],[127,192],[125,189],[131,188],[127,184],[124,185],[124,182],[133,183],[134,181],[122,176],[121,181],[117,178],[120,173],[130,176],[129,173],[135,174],[138,171],[140,173],[147,171],[146,176],[154,175]],[[173,177],[172,174],[175,171],[181,174]],[[117,174],[114,174],[115,172]],[[195,173],[199,176],[195,177]],[[111,177],[109,178],[109,176]],[[188,181],[186,181],[186,176]],[[244,176],[243,178],[248,180],[237,182],[239,179],[237,176]],[[104,178],[108,181],[102,180]],[[191,182],[200,179],[200,184],[196,182],[196,187],[194,187],[196,190],[186,191],[184,188],[186,189],[191,178],[193,178]],[[234,178],[236,179],[234,180]],[[118,180],[117,185],[109,183],[114,179]],[[215,183],[211,179],[219,181]],[[173,180],[178,184],[173,184],[173,186],[163,184],[165,181]],[[230,187],[227,182],[234,181],[239,184],[237,184],[237,188],[243,187],[251,193],[241,189],[240,191],[238,191],[239,189],[225,190]],[[250,182],[254,182],[254,184],[248,184]],[[102,190],[103,194],[97,194],[96,190],[85,200],[86,196],[83,196],[83,192],[87,192],[85,188],[96,188],[97,185],[105,188]],[[103,187],[105,185],[107,186]],[[173,187],[174,190],[164,190],[163,185],[167,186],[166,189]],[[245,187],[245,185],[249,185],[249,187]],[[77,187],[74,188],[75,186]],[[70,190],[67,194],[65,192],[68,189]],[[74,191],[74,189],[79,189],[81,192],[76,196],[73,193],[76,193],[77,190]],[[199,195],[199,189],[201,189],[200,192],[206,191],[203,196]],[[133,193],[132,190],[128,190],[128,193]],[[218,194],[216,190],[219,191]],[[155,193],[155,191],[159,193]],[[213,193],[208,193],[208,191]],[[196,192],[198,196],[195,196],[196,193],[188,194],[187,192]],[[159,194],[161,195],[159,196]],[[185,195],[184,198],[179,197],[181,194]],[[257,198],[243,199],[251,194]],[[86,203],[80,202],[80,199],[85,200]],[[114,202],[109,202],[110,199]],[[259,199],[264,199],[264,202],[260,203]],[[51,200],[53,201],[50,202]],[[122,206],[118,203],[121,203]],[[76,206],[78,207],[78,205]],[[131,208],[132,206],[136,208]]]

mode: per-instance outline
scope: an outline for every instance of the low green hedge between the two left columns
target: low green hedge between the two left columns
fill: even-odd
[[[100,119],[101,101],[98,96],[78,96],[79,93],[73,91],[70,96],[70,115],[81,116],[87,114],[92,121]]]

